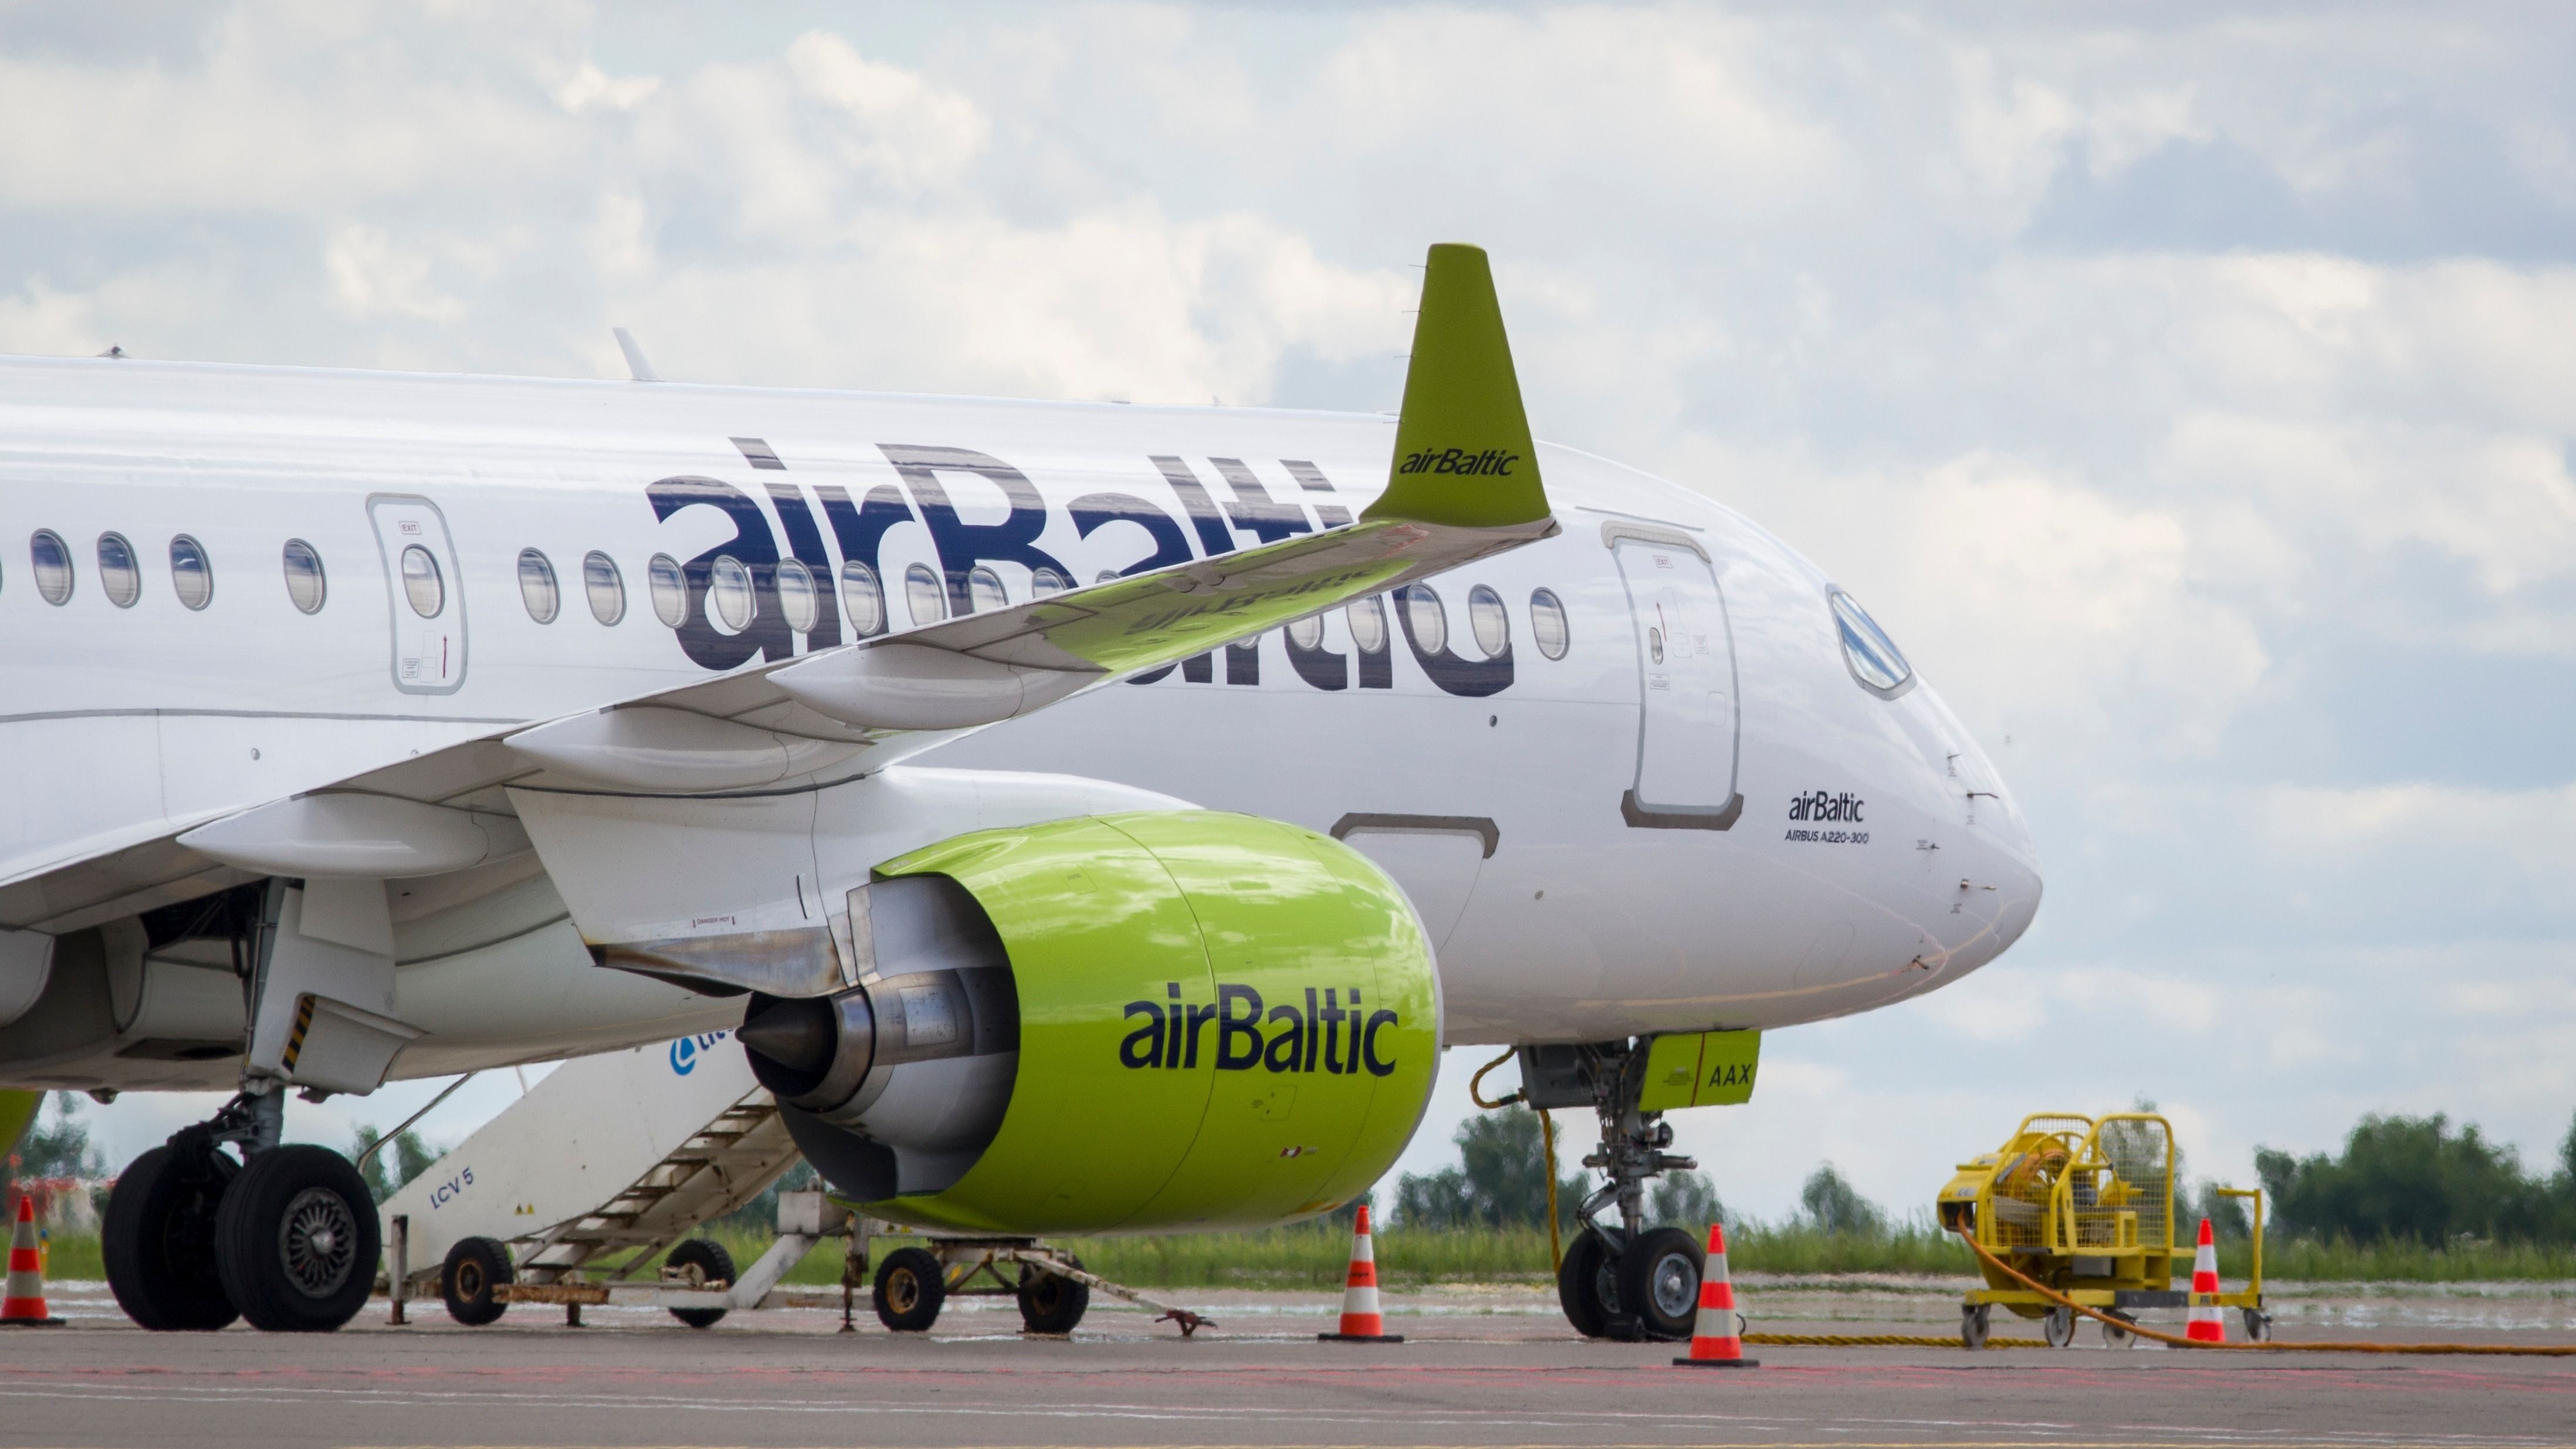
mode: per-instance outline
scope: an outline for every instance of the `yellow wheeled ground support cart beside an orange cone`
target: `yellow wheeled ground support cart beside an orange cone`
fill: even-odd
[[[2254,1282],[2218,1295],[2221,1307],[2244,1313],[2249,1338],[2269,1338],[2262,1310],[2262,1192],[2218,1189],[2254,1199]],[[2187,1307],[2197,1233],[2174,1235],[2174,1127],[2154,1112],[2076,1117],[2040,1112],[1999,1148],[1960,1163],[1940,1192],[1940,1225],[1968,1233],[1996,1259],[2035,1282],[2130,1318],[2141,1307]],[[2076,1315],[1984,1266],[1986,1287],[1960,1305],[1960,1341],[1986,1346],[1994,1305],[2043,1320],[2050,1346],[2076,1336]],[[2182,1289],[2174,1279],[2182,1279]],[[2120,1328],[2102,1331],[2115,1349],[2136,1343]]]

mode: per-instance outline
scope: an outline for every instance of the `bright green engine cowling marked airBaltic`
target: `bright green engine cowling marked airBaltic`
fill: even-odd
[[[963,888],[989,934],[984,921],[940,934],[966,955],[999,937],[1018,999],[1018,1066],[981,1153],[935,1192],[868,1202],[876,1217],[999,1235],[1285,1223],[1365,1192],[1430,1102],[1430,945],[1404,891],[1329,836],[1206,811],[1092,816],[956,836],[873,878]],[[886,1037],[902,1058],[909,1022],[969,1019],[938,1029],[984,1040],[979,1053],[1002,1045],[997,1004],[974,1004],[999,986],[976,986],[989,970],[953,973],[963,986],[945,988],[881,965],[873,1014],[842,1006],[832,1032]],[[804,1011],[801,1029],[824,1029],[819,1004],[788,1006]],[[791,1040],[783,1017],[762,1011],[747,1040]],[[799,1081],[855,1081],[848,1068],[868,1066],[814,1060]],[[757,1048],[755,1068],[762,1081],[778,1071]],[[837,1122],[871,1132],[863,1114]],[[804,1120],[799,1140],[811,1130]],[[811,1156],[832,1176],[829,1153]]]

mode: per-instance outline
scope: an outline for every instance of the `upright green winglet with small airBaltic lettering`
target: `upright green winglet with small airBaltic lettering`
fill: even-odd
[[[1548,517],[1484,247],[1437,242],[1422,268],[1394,471],[1360,517],[1453,528]]]

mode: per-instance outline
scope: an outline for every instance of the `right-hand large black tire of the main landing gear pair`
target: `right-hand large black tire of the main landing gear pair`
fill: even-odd
[[[270,1333],[330,1333],[358,1318],[381,1251],[366,1179],[304,1143],[250,1158],[214,1220],[224,1297]]]

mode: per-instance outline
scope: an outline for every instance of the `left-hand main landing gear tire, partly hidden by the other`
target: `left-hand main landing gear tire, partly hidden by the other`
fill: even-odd
[[[98,1253],[116,1307],[137,1325],[204,1333],[240,1318],[214,1266],[214,1223],[240,1171],[211,1145],[165,1145],[116,1174]]]

